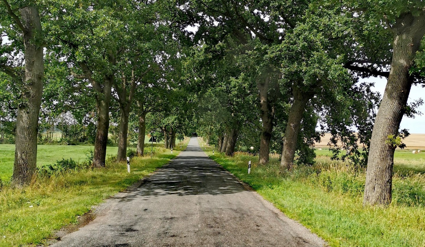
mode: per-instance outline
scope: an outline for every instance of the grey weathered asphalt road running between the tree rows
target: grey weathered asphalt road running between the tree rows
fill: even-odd
[[[326,246],[208,158],[197,138],[53,247]]]

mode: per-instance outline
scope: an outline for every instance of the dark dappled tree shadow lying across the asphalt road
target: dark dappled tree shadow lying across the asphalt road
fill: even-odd
[[[188,146],[185,151],[201,152],[199,147]],[[242,185],[208,157],[180,156],[160,168],[138,188],[127,191],[120,202],[139,197],[196,194],[234,194],[244,191]]]

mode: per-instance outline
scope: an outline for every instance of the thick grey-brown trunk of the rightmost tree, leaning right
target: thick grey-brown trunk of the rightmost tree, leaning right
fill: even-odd
[[[425,13],[419,17],[402,14],[393,27],[391,70],[372,131],[363,205],[391,202],[395,147],[388,136],[397,135],[411,89],[409,70],[425,33]]]

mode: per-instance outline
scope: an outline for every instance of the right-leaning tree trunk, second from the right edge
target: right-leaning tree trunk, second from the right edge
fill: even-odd
[[[282,157],[280,158],[280,166],[286,170],[289,170],[294,164],[303,112],[310,98],[312,98],[312,94],[302,93],[295,85],[292,91],[294,93],[294,102],[289,110],[288,124],[283,137]]]

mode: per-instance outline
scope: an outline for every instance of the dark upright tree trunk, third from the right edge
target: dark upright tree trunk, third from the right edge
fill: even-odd
[[[261,165],[269,163],[270,140],[272,139],[273,118],[275,117],[275,106],[271,106],[268,98],[270,76],[266,76],[264,81],[258,80],[257,88],[260,95],[260,116],[263,123],[260,137],[259,163]]]

